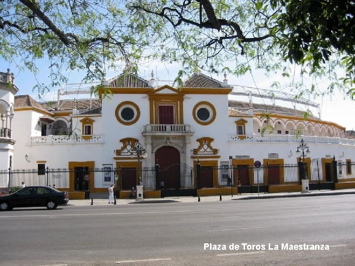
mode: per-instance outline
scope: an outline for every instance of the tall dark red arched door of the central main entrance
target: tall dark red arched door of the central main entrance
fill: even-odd
[[[180,153],[172,146],[163,146],[155,152],[155,162],[160,166],[159,182],[164,181],[164,189],[180,188]]]

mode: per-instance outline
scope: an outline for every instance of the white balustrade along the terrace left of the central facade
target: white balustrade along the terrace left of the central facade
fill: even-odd
[[[79,135],[48,135],[48,136],[32,136],[31,144],[66,144],[66,143],[95,143],[103,142],[102,135],[92,135],[90,139],[84,139]]]

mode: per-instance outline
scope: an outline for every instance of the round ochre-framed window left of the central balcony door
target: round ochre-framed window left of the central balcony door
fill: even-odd
[[[126,126],[136,123],[140,115],[140,109],[133,101],[123,101],[117,105],[115,110],[118,122]]]

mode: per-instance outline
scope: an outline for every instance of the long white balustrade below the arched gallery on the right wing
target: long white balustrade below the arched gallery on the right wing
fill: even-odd
[[[341,138],[341,137],[320,137],[320,136],[295,136],[295,135],[246,135],[241,139],[238,135],[230,134],[230,142],[300,142],[303,139],[310,143],[334,143],[334,144],[348,144],[355,145],[355,139]]]

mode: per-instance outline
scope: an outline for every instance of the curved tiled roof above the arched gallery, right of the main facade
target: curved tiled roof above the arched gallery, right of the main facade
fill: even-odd
[[[240,110],[240,111],[246,111],[246,110],[251,109],[250,103],[246,102],[246,101],[229,100],[228,106],[233,107],[233,108]],[[304,111],[301,111],[301,110],[287,108],[287,107],[283,107],[283,106],[275,106],[275,108],[274,108],[273,105],[269,105],[269,104],[264,105],[262,103],[253,103],[252,109],[253,109],[254,113],[268,112],[271,114],[284,114],[284,115],[295,115],[295,116],[303,116],[304,115]],[[317,118],[313,115],[310,115],[309,117],[310,118]]]

